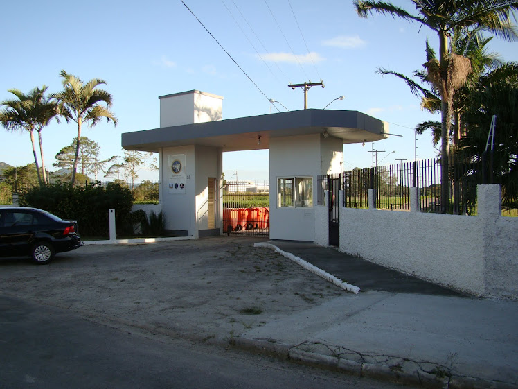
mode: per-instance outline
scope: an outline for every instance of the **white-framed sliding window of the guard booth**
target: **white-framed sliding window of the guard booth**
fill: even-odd
[[[278,207],[313,207],[313,178],[277,179]]]

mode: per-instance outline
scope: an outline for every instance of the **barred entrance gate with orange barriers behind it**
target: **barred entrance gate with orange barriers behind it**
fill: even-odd
[[[269,236],[269,182],[227,181],[223,186],[223,231]]]

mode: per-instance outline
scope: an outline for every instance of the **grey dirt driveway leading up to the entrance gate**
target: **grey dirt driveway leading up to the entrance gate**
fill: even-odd
[[[249,329],[346,293],[266,248],[264,239],[86,245],[48,266],[0,260],[0,293],[96,322],[204,340]]]

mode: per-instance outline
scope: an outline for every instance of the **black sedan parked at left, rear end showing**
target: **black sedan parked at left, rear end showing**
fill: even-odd
[[[25,207],[0,208],[0,257],[30,256],[39,264],[81,245],[78,222]]]

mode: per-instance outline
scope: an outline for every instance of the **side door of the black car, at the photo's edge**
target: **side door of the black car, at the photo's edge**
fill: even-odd
[[[2,256],[28,254],[33,241],[33,214],[30,211],[7,209],[2,211],[0,247]]]

